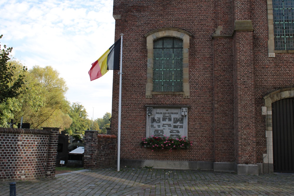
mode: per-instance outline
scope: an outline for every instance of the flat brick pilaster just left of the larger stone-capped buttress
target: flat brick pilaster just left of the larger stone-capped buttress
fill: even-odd
[[[215,171],[234,171],[234,71],[232,37],[213,37]]]

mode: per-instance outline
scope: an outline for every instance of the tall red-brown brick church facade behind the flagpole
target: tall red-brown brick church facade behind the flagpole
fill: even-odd
[[[267,153],[263,96],[294,84],[293,54],[268,56],[267,2],[114,0],[113,5],[113,15],[121,16],[116,19],[115,40],[124,33],[121,159],[263,163],[263,153]],[[254,31],[234,31],[235,20],[251,20]],[[181,95],[145,97],[144,35],[168,27],[192,34],[188,99]],[[216,29],[220,29],[218,36],[214,36]],[[245,61],[249,61],[249,67]],[[247,78],[242,78],[244,74]],[[119,75],[114,71],[114,134],[118,127],[118,91]],[[188,139],[194,145],[174,152],[140,148],[138,144],[146,135],[145,105],[190,105]]]

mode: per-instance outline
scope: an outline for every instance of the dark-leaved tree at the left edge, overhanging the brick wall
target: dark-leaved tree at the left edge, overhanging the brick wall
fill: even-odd
[[[0,39],[2,36],[0,36]],[[0,53],[0,103],[6,98],[17,97],[21,93],[20,88],[25,82],[24,77],[27,68],[23,66],[22,71],[19,72],[16,66],[9,63],[11,51],[12,47],[7,48],[4,45],[4,49]]]

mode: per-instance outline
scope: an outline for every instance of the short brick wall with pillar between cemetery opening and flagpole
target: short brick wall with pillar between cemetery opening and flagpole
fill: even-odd
[[[84,168],[99,169],[113,167],[117,160],[117,137],[85,131]]]

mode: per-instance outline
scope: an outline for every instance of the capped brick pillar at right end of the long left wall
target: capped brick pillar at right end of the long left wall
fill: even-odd
[[[43,130],[50,132],[49,143],[48,143],[48,155],[46,165],[46,177],[55,177],[55,165],[57,157],[57,146],[58,146],[58,135],[60,128],[42,127]]]

